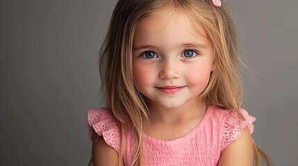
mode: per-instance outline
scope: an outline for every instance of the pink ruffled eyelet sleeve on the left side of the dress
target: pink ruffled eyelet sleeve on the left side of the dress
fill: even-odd
[[[90,109],[88,111],[88,129],[90,138],[93,138],[94,134],[103,136],[106,144],[119,153],[120,132],[109,109]]]

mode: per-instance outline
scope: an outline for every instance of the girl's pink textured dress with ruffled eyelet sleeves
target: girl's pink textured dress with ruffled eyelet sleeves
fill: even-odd
[[[190,133],[176,140],[164,141],[151,138],[143,133],[144,165],[217,165],[220,154],[233,140],[248,127],[254,131],[256,118],[241,109],[245,120],[240,120],[235,112],[210,106],[204,118]],[[108,145],[117,152],[120,148],[120,135],[115,118],[109,109],[88,111],[90,134],[103,136]],[[135,137],[130,129],[125,129],[126,148],[124,165],[132,163]],[[91,135],[92,136],[92,135]]]

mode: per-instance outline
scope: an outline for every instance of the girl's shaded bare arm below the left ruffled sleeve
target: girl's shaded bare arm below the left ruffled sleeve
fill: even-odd
[[[107,145],[102,136],[96,136],[96,138],[93,139],[92,163],[93,166],[118,166],[117,151]],[[123,164],[119,166],[123,166]]]

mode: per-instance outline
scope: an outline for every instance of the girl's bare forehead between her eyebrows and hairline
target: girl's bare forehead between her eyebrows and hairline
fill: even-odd
[[[159,13],[142,19],[135,30],[134,47],[138,45],[159,45],[165,48],[181,44],[209,43],[206,32],[199,22],[194,23],[183,14]]]

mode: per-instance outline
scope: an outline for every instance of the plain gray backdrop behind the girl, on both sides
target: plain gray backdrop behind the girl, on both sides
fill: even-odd
[[[97,57],[115,3],[1,0],[0,165],[87,165],[86,110],[101,105]],[[298,1],[227,3],[256,143],[275,165],[298,165]]]

